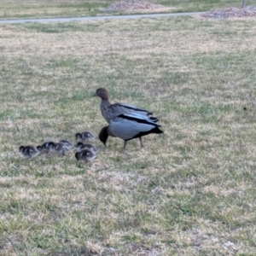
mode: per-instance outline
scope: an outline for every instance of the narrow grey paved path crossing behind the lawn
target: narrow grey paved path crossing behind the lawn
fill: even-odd
[[[85,21],[85,20],[122,20],[122,19],[139,19],[139,18],[161,18],[173,16],[201,15],[204,12],[197,13],[173,13],[173,14],[157,14],[157,15],[117,15],[117,16],[98,16],[98,17],[72,17],[72,18],[49,18],[49,19],[27,19],[27,20],[0,20],[2,23],[26,23],[26,22],[69,22],[69,21]]]

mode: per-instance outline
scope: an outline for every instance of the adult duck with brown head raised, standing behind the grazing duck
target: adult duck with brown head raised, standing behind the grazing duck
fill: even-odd
[[[101,102],[101,112],[102,112],[102,116],[104,119],[106,119],[106,121],[108,122],[108,124],[110,123],[110,121],[112,119],[114,119],[115,117],[119,116],[122,113],[138,113],[140,115],[144,115],[144,116],[150,116],[153,113],[142,109],[142,108],[137,108],[136,106],[130,105],[130,104],[125,104],[125,103],[113,103],[111,104],[109,102],[109,93],[108,90],[105,88],[99,88],[96,90],[96,93],[93,96],[99,96],[100,98],[102,98],[102,102]],[[157,122],[158,119],[151,117],[150,118],[152,121]]]

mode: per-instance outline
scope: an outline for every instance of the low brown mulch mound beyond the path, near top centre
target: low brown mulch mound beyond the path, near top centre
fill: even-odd
[[[148,3],[148,2],[139,2],[139,3],[125,3],[125,2],[118,2],[112,3],[106,8],[107,11],[165,11],[170,10],[170,8],[166,8],[166,6],[161,4],[155,3]]]

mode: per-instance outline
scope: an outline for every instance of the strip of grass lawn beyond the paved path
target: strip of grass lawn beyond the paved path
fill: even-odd
[[[49,17],[79,17],[97,15],[124,15],[127,12],[106,11],[111,3],[131,2],[124,0],[105,1],[83,1],[83,0],[1,0],[0,19],[22,19],[22,18],[49,18]],[[138,2],[135,0],[135,2]],[[219,9],[224,7],[241,7],[241,0],[148,0],[150,3],[162,4],[170,9],[153,9],[151,12],[195,12]],[[256,0],[247,0],[247,5],[255,5]],[[129,12],[131,14],[140,11]]]

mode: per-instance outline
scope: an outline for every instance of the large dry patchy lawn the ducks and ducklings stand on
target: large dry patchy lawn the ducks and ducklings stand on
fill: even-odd
[[[0,25],[0,255],[255,255],[256,20]],[[164,135],[21,160],[112,102]]]

